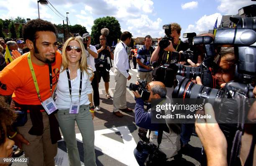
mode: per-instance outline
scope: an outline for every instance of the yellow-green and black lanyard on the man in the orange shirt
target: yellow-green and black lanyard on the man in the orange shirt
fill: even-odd
[[[37,97],[38,99],[40,100],[40,102],[42,102],[41,100],[41,95],[39,93],[39,87],[38,87],[38,84],[37,84],[37,80],[36,80],[36,74],[35,74],[35,71],[34,71],[34,68],[33,68],[33,65],[32,65],[32,61],[31,61],[31,56],[30,56],[30,53],[28,53],[28,65],[29,65],[29,68],[30,68],[30,71],[31,71],[31,74],[32,74],[32,78],[33,78],[33,81],[34,81],[34,84],[35,84],[35,87],[36,87],[36,93],[37,93]],[[52,71],[51,71],[51,64],[48,64],[49,65],[49,78],[50,78],[50,94],[52,96]]]

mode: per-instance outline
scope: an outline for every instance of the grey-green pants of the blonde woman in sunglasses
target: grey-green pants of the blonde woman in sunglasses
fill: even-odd
[[[57,120],[67,143],[67,152],[70,166],[81,166],[79,152],[77,148],[77,139],[75,133],[75,121],[82,134],[84,147],[84,165],[96,166],[94,150],[94,127],[92,115],[89,111],[89,105],[80,105],[78,114],[69,114],[69,109],[59,110]]]

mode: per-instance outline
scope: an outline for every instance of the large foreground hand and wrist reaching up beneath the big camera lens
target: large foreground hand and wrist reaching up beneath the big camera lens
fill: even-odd
[[[202,110],[197,114],[210,115],[210,119],[197,119],[195,130],[199,136],[207,156],[208,166],[227,166],[228,143],[225,135],[215,120],[214,110],[210,103],[205,104],[205,113]],[[206,122],[206,123],[205,123]]]

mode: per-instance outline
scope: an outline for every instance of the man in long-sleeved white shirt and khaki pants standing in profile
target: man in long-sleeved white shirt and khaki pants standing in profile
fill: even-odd
[[[117,117],[123,117],[119,110],[132,112],[133,110],[126,105],[126,82],[131,79],[128,74],[131,66],[128,61],[127,45],[131,43],[131,33],[125,31],[121,34],[121,41],[115,47],[114,53],[114,76],[115,76],[115,93],[113,96],[113,114]]]

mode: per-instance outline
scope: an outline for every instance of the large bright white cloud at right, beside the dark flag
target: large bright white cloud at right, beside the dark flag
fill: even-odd
[[[215,21],[218,18],[218,25],[220,25],[221,21],[221,14],[220,13],[214,13],[212,15],[204,15],[199,20],[195,22],[195,24],[190,24],[188,28],[184,31],[184,33],[200,33],[200,32],[208,32],[209,29],[213,29],[213,26],[215,25]]]

